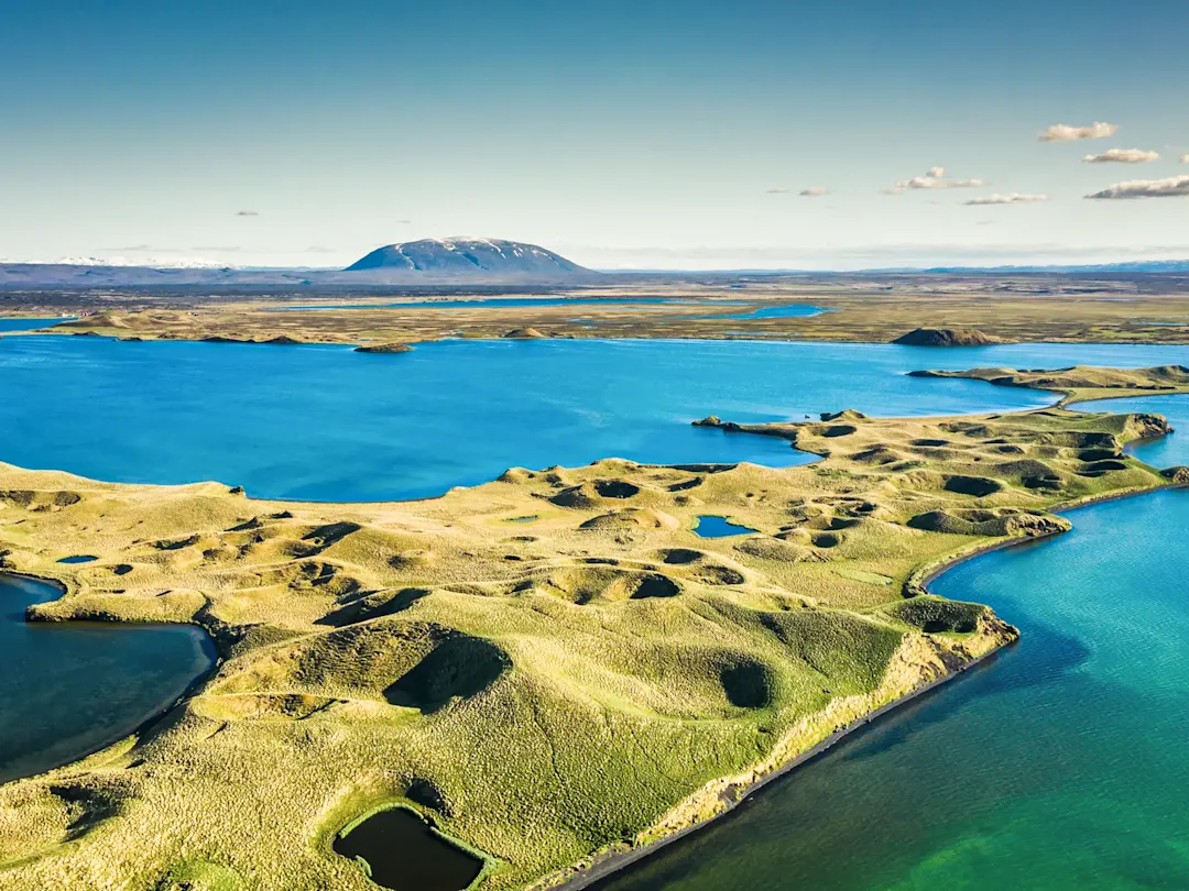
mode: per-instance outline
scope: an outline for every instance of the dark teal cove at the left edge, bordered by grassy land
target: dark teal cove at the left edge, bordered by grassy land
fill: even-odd
[[[193,626],[25,621],[25,607],[59,594],[0,574],[0,783],[124,739],[214,666]]]

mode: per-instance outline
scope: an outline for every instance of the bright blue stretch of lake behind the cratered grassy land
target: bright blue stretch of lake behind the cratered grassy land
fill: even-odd
[[[124,482],[219,480],[258,497],[415,498],[508,467],[811,460],[693,428],[854,407],[1005,411],[1044,393],[905,377],[921,367],[1189,361],[1189,347],[921,347],[748,341],[447,341],[350,347],[0,339],[0,460]]]

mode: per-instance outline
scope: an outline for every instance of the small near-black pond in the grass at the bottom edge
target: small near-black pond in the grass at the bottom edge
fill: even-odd
[[[334,849],[363,860],[371,880],[394,891],[463,891],[483,871],[482,860],[404,808],[377,811],[348,827]]]

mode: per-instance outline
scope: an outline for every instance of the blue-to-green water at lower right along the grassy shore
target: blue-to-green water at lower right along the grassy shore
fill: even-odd
[[[599,889],[1189,887],[1189,492],[1069,516],[932,586],[1017,646]]]

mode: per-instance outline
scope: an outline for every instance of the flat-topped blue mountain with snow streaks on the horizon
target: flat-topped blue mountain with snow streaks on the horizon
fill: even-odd
[[[503,239],[422,239],[372,251],[345,272],[410,279],[565,280],[597,273],[536,245]]]

